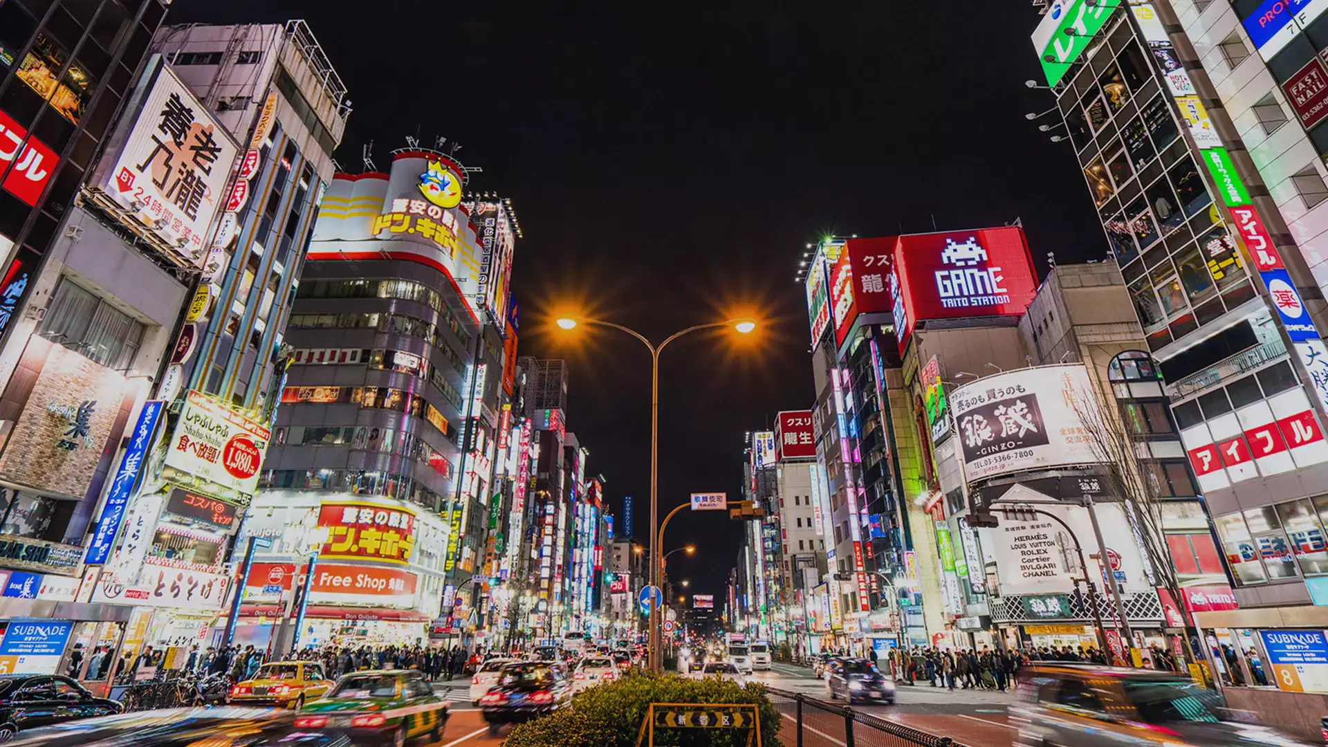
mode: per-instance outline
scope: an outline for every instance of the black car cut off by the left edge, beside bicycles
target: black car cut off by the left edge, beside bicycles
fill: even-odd
[[[94,698],[68,677],[16,674],[0,677],[0,742],[29,728],[118,714],[116,700]]]

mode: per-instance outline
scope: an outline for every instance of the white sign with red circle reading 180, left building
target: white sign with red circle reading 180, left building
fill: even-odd
[[[166,467],[254,494],[270,437],[259,423],[190,391],[170,439]]]

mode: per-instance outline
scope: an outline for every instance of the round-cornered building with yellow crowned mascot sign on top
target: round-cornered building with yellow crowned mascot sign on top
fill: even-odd
[[[440,610],[457,633],[485,627],[489,582],[499,577],[491,556],[506,493],[494,476],[507,464],[498,444],[506,449],[511,437],[502,335],[513,326],[478,303],[485,246],[475,209],[461,202],[465,181],[448,154],[406,148],[388,173],[337,174],[319,214],[290,320],[284,407],[254,505],[266,518],[246,524],[256,537],[312,513],[331,533],[309,586],[313,638],[301,643],[365,615],[377,617],[357,631],[369,641],[416,638]],[[376,541],[378,533],[394,541]],[[259,558],[292,552],[274,545]],[[398,593],[320,586],[332,560],[347,574],[372,568],[356,578],[382,576]],[[246,617],[264,613],[262,578],[250,573],[258,593]]]

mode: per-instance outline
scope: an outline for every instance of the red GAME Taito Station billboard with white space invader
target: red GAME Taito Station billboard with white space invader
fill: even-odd
[[[1037,295],[1019,226],[899,237],[888,272],[900,354],[922,319],[1019,316]]]

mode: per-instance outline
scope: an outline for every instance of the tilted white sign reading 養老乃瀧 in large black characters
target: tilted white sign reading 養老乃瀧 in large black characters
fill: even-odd
[[[127,221],[202,267],[239,149],[170,66],[159,56],[153,62],[151,88],[100,186]]]

